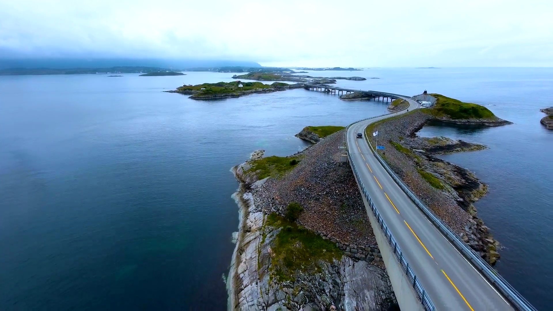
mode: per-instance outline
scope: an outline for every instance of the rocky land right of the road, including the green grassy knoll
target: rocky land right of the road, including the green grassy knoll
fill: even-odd
[[[371,133],[378,129],[379,145],[385,146],[385,151],[379,151],[382,158],[453,232],[493,264],[499,258],[499,242],[477,217],[473,205],[487,193],[488,186],[469,170],[435,157],[487,147],[446,137],[417,137],[416,132],[430,121],[487,126],[511,122],[475,103],[439,94],[430,96],[436,99],[435,107],[375,122],[367,127],[366,137],[374,143]]]

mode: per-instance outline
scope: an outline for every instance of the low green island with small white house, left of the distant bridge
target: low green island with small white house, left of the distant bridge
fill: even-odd
[[[217,82],[204,83],[197,85],[183,85],[174,91],[165,91],[169,93],[180,93],[191,95],[190,99],[211,100],[211,99],[226,99],[229,97],[240,97],[250,94],[268,93],[275,91],[283,91],[286,89],[297,89],[304,87],[303,83],[286,84],[282,82],[274,82],[271,85],[263,84],[262,82]]]

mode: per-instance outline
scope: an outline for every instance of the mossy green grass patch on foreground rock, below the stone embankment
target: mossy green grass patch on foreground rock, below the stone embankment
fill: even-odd
[[[273,258],[269,268],[270,277],[276,277],[278,282],[294,281],[296,271],[318,273],[319,261],[332,262],[342,256],[335,243],[276,214],[269,215],[266,224],[282,228],[271,246]]]

